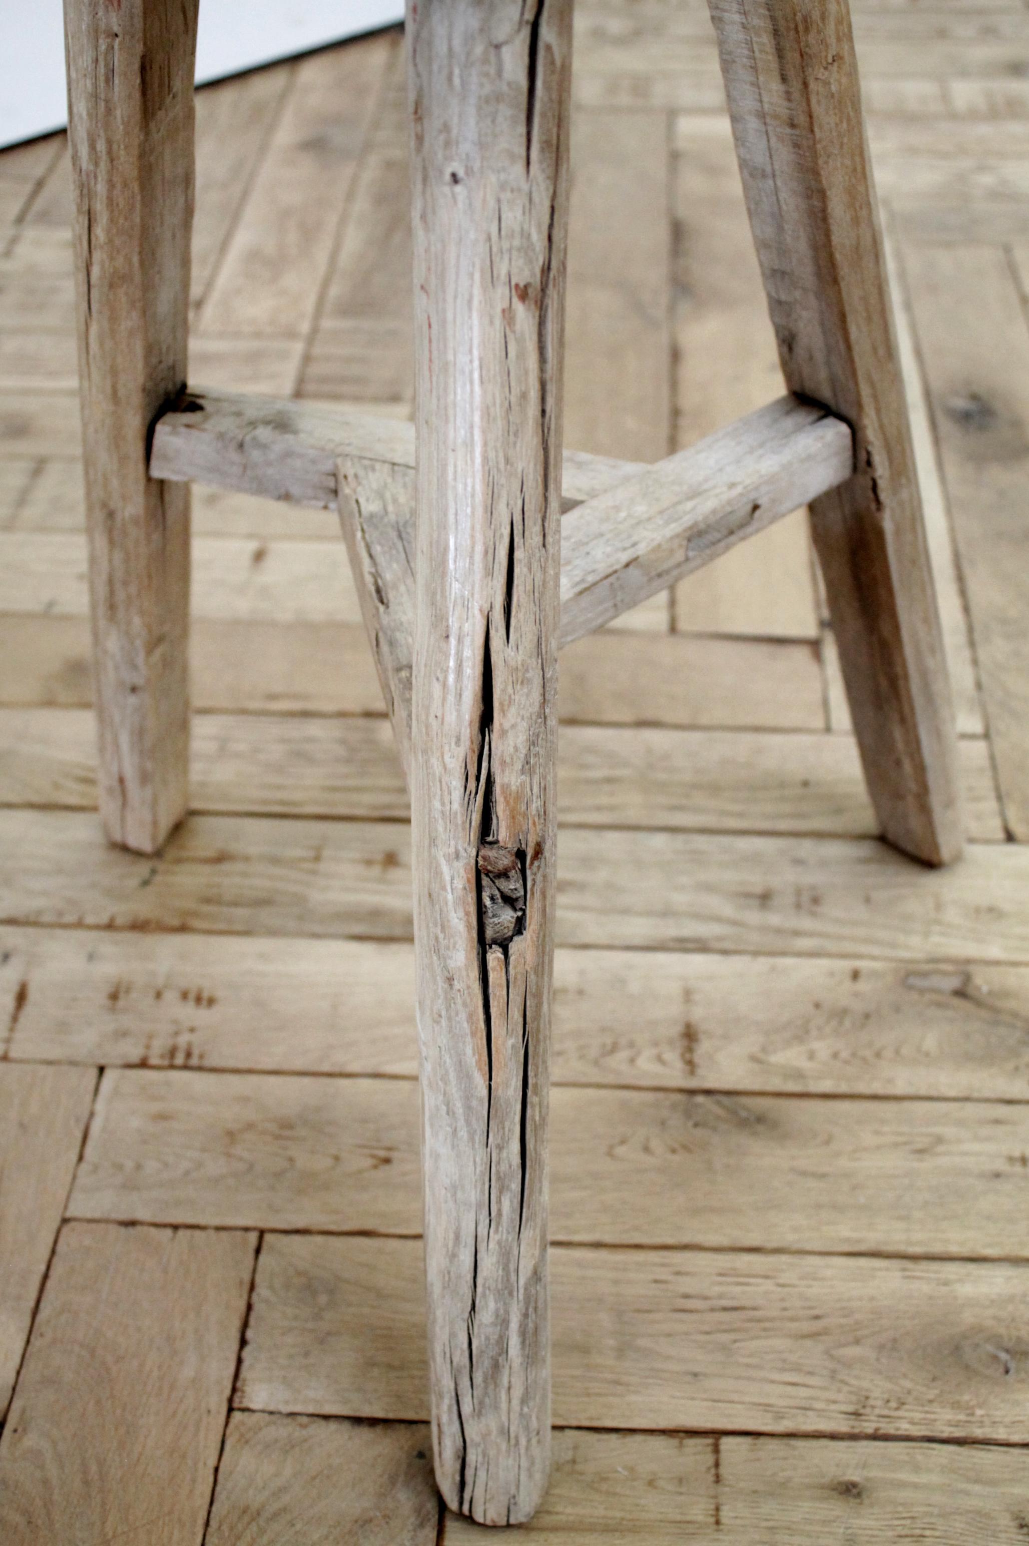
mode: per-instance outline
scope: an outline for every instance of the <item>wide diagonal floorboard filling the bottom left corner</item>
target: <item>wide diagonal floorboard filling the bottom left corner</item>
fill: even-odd
[[[199,1546],[255,1245],[65,1226],[0,1438],[5,1543]]]

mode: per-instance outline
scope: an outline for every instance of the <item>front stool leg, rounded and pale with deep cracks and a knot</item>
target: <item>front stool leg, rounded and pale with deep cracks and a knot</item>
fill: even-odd
[[[572,0],[411,0],[414,937],[436,1476],[547,1484],[561,352]]]

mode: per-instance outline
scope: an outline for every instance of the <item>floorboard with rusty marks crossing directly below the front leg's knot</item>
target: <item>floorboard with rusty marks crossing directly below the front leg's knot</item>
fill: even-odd
[[[417,1071],[405,943],[5,928],[0,957],[12,1059]],[[553,1017],[555,1084],[1029,1096],[1026,966],[558,949]]]

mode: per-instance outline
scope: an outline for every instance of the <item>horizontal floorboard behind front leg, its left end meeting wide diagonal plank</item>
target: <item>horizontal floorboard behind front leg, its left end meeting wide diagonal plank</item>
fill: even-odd
[[[550,1258],[559,1425],[1026,1442],[1024,1263]],[[417,1240],[269,1235],[239,1405],[423,1421],[423,1292]]]

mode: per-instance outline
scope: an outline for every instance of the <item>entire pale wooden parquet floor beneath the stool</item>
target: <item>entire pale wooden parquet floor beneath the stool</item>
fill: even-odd
[[[853,0],[966,856],[876,841],[803,512],[561,657],[541,1546],[1029,1534],[1029,9]],[[565,445],[780,391],[706,0],[578,0]],[[198,383],[409,419],[391,31],[198,94]],[[0,1540],[471,1546],[408,798],[329,510],[193,492],[192,815],[108,849],[63,135],[0,152]]]

